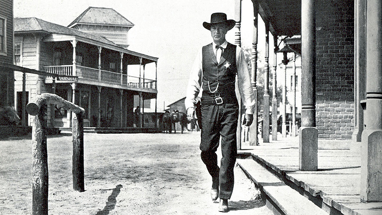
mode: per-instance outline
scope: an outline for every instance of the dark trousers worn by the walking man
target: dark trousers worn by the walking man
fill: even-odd
[[[230,199],[233,191],[238,116],[239,105],[237,103],[201,106],[200,156],[212,176],[212,188],[219,188],[220,199]],[[216,150],[220,137],[222,158],[219,168]]]

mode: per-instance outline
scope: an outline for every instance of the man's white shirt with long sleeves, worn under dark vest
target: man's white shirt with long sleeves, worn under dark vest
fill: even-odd
[[[227,48],[227,41],[225,41],[222,45],[220,45],[223,48],[222,53]],[[216,54],[216,44],[212,43],[213,52]],[[220,53],[221,56],[221,53]],[[218,57],[218,56],[217,56]],[[220,58],[217,62],[220,61]],[[244,103],[244,106],[246,108],[245,113],[253,114],[254,107],[255,107],[255,94],[253,93],[252,84],[251,84],[251,76],[248,71],[248,66],[245,61],[245,57],[243,54],[243,51],[239,46],[236,46],[236,68],[237,68],[237,84],[239,86],[239,92],[241,99]],[[197,53],[197,56],[195,58],[195,61],[191,68],[191,74],[190,74],[190,80],[189,84],[187,86],[187,92],[186,92],[186,100],[185,105],[186,109],[194,107],[195,98],[198,96],[202,85],[203,80],[203,74],[202,74],[202,50],[200,49]]]

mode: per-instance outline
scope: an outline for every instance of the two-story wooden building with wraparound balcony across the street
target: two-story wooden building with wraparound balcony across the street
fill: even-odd
[[[27,99],[55,93],[85,108],[85,127],[132,127],[134,96],[140,104],[157,98],[158,61],[126,49],[132,26],[114,9],[98,7],[89,7],[69,27],[34,17],[15,18],[15,63],[73,76],[56,80],[28,74]],[[16,73],[15,80],[16,107],[21,108],[21,74]],[[70,113],[49,109],[48,124],[71,126]]]

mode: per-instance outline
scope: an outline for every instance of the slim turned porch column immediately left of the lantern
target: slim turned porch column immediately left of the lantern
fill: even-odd
[[[277,140],[277,35],[273,36],[274,55],[273,55],[273,73],[272,73],[272,140]]]

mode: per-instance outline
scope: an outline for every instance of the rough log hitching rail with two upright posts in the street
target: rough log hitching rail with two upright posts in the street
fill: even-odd
[[[74,112],[72,115],[73,136],[73,189],[84,192],[84,108],[81,108],[55,94],[38,95],[26,106],[30,115],[35,115],[32,125],[33,143],[33,182],[32,214],[48,215],[48,153],[47,153],[47,120],[48,104],[55,104]]]

